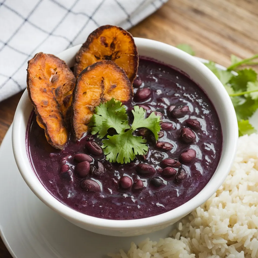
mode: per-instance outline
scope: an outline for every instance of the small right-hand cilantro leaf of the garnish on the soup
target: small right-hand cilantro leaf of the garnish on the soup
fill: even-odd
[[[156,140],[158,140],[158,132],[160,131],[159,116],[156,116],[155,113],[152,112],[149,117],[145,118],[146,111],[139,106],[135,106],[132,113],[134,116],[132,129],[136,130],[140,127],[148,128],[154,134]]]

